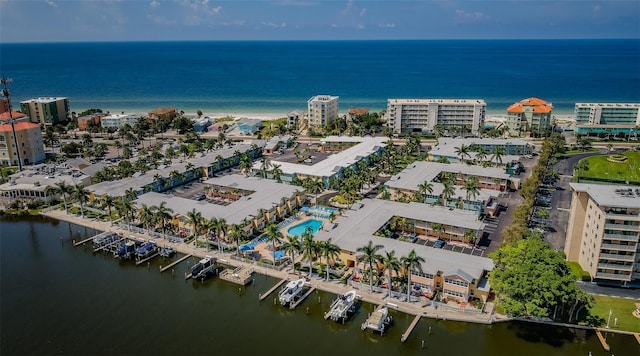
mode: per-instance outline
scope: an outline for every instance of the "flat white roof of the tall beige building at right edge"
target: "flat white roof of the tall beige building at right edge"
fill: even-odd
[[[587,183],[569,183],[569,186],[576,192],[589,194],[591,199],[603,207],[640,209],[640,195],[636,194],[636,190],[640,190],[638,186]],[[619,193],[620,190],[628,192],[629,189],[633,195]]]

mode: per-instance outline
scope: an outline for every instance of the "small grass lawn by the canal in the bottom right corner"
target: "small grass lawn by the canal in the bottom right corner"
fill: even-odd
[[[594,298],[596,303],[591,309],[591,314],[604,319],[602,327],[607,326],[607,318],[609,318],[609,310],[611,310],[611,322],[609,323],[611,329],[640,332],[640,319],[631,314],[636,309],[635,303],[640,303],[640,299],[632,300],[600,295],[594,295]],[[618,326],[616,327],[613,326],[614,318],[618,318]]]

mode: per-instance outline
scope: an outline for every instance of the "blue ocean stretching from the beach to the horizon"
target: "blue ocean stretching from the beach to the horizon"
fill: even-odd
[[[279,113],[316,94],[340,109],[388,98],[480,98],[489,113],[536,96],[639,102],[640,40],[242,41],[0,44],[14,102],[67,96],[91,107]]]

